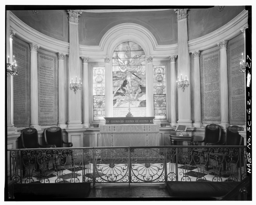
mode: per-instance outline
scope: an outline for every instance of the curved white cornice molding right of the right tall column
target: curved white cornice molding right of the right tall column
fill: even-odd
[[[241,28],[247,24],[248,11],[244,10],[229,23],[219,29],[197,39],[188,41],[189,53],[197,50],[206,50],[216,46],[223,39],[230,40],[241,33]]]

